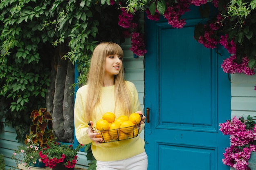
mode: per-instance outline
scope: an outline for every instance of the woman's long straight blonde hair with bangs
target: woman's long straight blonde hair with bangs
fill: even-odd
[[[85,119],[87,121],[92,119],[94,108],[99,104],[99,94],[105,74],[106,56],[115,54],[123,57],[124,52],[118,44],[113,42],[102,42],[98,44],[92,53],[87,82],[88,93],[85,104]],[[130,99],[130,92],[126,88],[124,81],[124,66],[121,67],[119,74],[115,75],[114,84],[115,104],[118,104],[120,108],[124,109],[125,115],[129,115],[132,110],[132,101]]]

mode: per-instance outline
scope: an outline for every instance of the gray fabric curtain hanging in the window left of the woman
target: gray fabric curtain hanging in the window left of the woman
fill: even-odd
[[[47,94],[47,111],[52,113],[54,135],[58,141],[72,143],[74,140],[74,66],[62,57],[61,45],[58,57],[52,62],[51,84]]]

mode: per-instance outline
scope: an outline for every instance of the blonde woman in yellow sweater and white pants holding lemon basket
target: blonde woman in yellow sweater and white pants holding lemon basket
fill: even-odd
[[[137,89],[124,80],[123,50],[118,44],[103,42],[93,51],[88,83],[76,92],[74,124],[80,144],[92,142],[97,170],[147,170],[144,140],[139,137],[102,143],[93,133],[94,122],[106,112],[116,117],[131,113],[142,115]],[[88,126],[90,121],[91,126]],[[144,127],[145,116],[141,119]]]

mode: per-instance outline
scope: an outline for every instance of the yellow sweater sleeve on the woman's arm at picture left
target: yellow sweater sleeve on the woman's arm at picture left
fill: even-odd
[[[76,92],[76,100],[74,104],[74,126],[76,139],[80,144],[86,145],[92,142],[87,135],[88,122],[85,120],[85,87],[81,87]]]

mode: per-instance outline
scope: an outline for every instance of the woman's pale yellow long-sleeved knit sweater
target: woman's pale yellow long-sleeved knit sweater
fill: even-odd
[[[141,106],[138,99],[138,92],[135,85],[132,82],[126,81],[128,89],[131,92],[133,99],[133,110],[132,113],[141,111]],[[94,126],[96,121],[101,119],[102,115],[106,112],[115,113],[116,117],[123,115],[121,109],[115,109],[114,99],[114,88],[115,86],[101,87],[100,92],[100,103],[101,106],[97,107],[96,114],[92,116],[92,122]],[[85,100],[88,91],[88,86],[82,86],[76,92],[76,100],[74,106],[74,126],[76,139],[80,144],[90,144],[92,140],[88,137],[86,130],[88,128],[88,121],[84,118]],[[141,128],[144,127],[144,124]],[[145,151],[145,142],[139,135],[132,139],[126,139],[121,141],[107,142],[102,144],[94,144],[92,142],[92,153],[96,160],[99,161],[117,161],[127,159],[138,155]]]

